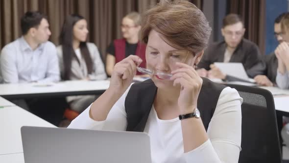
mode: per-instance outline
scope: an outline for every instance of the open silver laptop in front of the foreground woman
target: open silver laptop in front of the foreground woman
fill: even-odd
[[[145,133],[24,126],[21,135],[25,163],[151,163]]]

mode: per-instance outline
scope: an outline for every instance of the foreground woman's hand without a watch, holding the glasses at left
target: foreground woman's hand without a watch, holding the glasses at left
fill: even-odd
[[[123,94],[136,75],[137,66],[142,62],[143,60],[137,55],[129,55],[118,62],[114,66],[108,89],[113,89],[114,92]]]

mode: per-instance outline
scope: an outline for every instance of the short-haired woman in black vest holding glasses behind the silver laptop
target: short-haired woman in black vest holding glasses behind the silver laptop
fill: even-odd
[[[69,128],[145,132],[152,163],[238,163],[242,99],[194,70],[211,33],[204,14],[189,1],[164,0],[145,12],[141,33],[147,68],[171,78],[131,85],[143,60],[130,55]]]

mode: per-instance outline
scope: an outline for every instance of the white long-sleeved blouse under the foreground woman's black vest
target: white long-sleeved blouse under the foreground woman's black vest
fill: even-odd
[[[113,106],[105,121],[91,119],[88,107],[68,128],[125,131],[127,121],[124,101],[129,89]],[[161,120],[152,107],[144,130],[150,136],[152,163],[238,163],[241,151],[241,103],[242,98],[235,89],[224,88],[208,127],[209,139],[188,153],[184,153],[178,117]]]

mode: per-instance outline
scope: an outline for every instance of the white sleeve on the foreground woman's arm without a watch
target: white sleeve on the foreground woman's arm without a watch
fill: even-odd
[[[128,93],[128,89],[112,107],[104,121],[95,121],[89,116],[89,106],[79,116],[77,116],[68,128],[74,129],[88,129],[88,130],[112,130],[112,131],[125,131],[127,126],[126,112],[124,108],[124,101]]]

